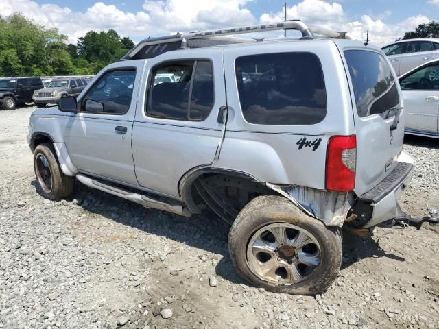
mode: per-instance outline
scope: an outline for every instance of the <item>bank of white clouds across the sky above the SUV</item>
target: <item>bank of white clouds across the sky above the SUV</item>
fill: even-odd
[[[283,20],[283,10],[255,18],[246,8],[250,1],[145,0],[139,12],[128,12],[115,5],[97,2],[84,12],[74,12],[55,4],[38,5],[33,0],[2,0],[1,16],[21,12],[36,23],[57,27],[62,34],[69,36],[69,42],[76,42],[90,29],[100,31],[112,28],[122,36],[141,40],[147,36],[174,32]],[[429,0],[429,3],[439,5],[439,0]],[[401,38],[418,24],[430,21],[428,17],[418,15],[400,23],[388,24],[385,19],[389,15],[389,12],[383,12],[374,19],[364,14],[358,21],[352,21],[346,16],[341,3],[322,0],[302,0],[288,8],[288,19],[301,19],[309,25],[346,31],[360,40],[364,40],[364,33],[369,27],[370,39],[379,45]]]

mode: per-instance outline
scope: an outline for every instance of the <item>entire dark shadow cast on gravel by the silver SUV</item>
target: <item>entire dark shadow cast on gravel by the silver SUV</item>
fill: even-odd
[[[34,180],[31,184],[36,192],[40,193],[38,182]],[[215,273],[224,280],[247,284],[233,267],[228,255],[227,237],[230,226],[213,213],[182,217],[161,210],[144,208],[79,182],[76,182],[75,192],[68,201],[71,202],[73,199],[79,200],[80,206],[93,214],[220,255],[222,258],[215,266]],[[342,269],[346,269],[358,260],[371,257],[404,261],[402,257],[385,252],[374,239],[361,238],[346,231],[343,236]]]

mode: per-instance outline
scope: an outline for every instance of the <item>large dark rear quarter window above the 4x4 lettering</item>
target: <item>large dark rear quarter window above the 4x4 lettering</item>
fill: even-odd
[[[327,114],[320,60],[313,53],[242,56],[235,71],[244,118],[262,125],[312,125]]]

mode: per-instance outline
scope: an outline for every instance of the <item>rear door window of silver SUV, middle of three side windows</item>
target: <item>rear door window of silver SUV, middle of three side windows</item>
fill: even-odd
[[[152,72],[146,112],[164,119],[202,121],[209,116],[213,101],[211,62],[164,64]]]

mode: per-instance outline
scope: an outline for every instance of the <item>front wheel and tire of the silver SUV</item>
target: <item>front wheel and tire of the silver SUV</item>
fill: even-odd
[[[69,197],[75,183],[74,177],[62,173],[55,154],[51,143],[40,144],[34,151],[34,171],[41,195],[51,200]]]

